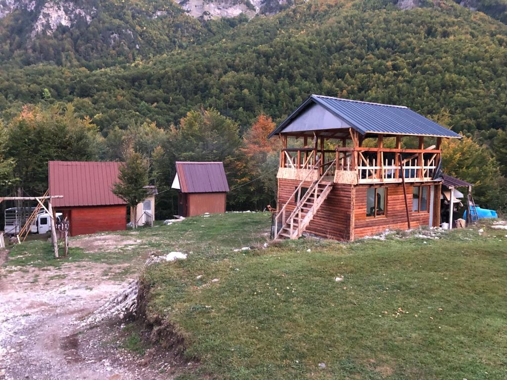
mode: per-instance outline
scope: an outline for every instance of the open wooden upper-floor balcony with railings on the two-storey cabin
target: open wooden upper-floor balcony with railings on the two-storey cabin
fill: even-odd
[[[397,183],[432,181],[440,161],[440,149],[337,147],[282,149],[277,178],[317,180],[323,173],[335,183]],[[322,165],[314,169],[316,157]],[[331,169],[328,167],[335,162]]]

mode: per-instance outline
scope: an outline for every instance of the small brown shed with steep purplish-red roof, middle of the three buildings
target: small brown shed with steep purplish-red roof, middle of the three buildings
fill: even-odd
[[[222,162],[176,161],[172,188],[178,190],[178,215],[222,213],[229,184]]]

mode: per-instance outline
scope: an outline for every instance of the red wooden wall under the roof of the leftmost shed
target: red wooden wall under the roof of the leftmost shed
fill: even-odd
[[[124,231],[127,228],[127,206],[71,207],[68,210],[70,236],[100,231]],[[67,210],[58,212],[67,213]]]

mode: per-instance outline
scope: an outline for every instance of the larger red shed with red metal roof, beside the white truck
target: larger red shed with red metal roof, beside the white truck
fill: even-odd
[[[113,194],[119,162],[49,161],[49,194],[70,222],[70,236],[127,228],[126,203]]]

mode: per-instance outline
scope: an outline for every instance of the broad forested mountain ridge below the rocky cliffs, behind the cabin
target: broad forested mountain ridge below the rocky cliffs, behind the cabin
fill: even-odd
[[[320,2],[232,29],[224,22],[211,24],[206,43],[134,64],[11,69],[0,84],[3,116],[47,88],[44,102],[73,102],[104,133],[144,120],[167,127],[201,105],[244,128],[261,111],[280,119],[321,93],[405,104],[486,139],[507,129],[507,27],[483,14]]]

